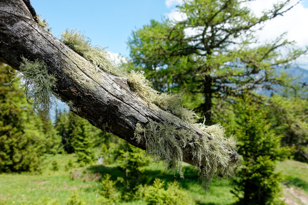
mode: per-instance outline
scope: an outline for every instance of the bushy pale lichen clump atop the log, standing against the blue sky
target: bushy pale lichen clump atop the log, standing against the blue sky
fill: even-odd
[[[79,55],[90,61],[97,69],[103,69],[105,72],[114,76],[123,77],[123,70],[113,65],[105,48],[100,46],[90,45],[91,41],[82,33],[76,30],[62,32],[61,39],[64,44],[71,47]]]

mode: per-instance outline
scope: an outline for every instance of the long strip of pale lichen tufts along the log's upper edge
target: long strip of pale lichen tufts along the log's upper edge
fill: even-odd
[[[131,70],[129,73],[115,66],[108,53],[100,46],[92,46],[89,38],[77,30],[65,30],[62,32],[60,40],[73,49],[76,53],[90,61],[96,68],[115,76],[125,77],[130,87],[148,103],[154,103],[160,108],[175,114],[184,122],[195,123],[199,119],[193,110],[180,105],[182,96],[180,94],[159,93],[153,90],[149,81],[143,73]]]

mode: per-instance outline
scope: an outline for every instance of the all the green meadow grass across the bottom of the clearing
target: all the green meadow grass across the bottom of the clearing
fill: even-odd
[[[94,175],[99,173],[102,176],[110,174],[112,180],[117,177],[124,177],[125,173],[121,171],[116,164],[112,165],[91,165],[85,168],[78,168],[74,163],[71,170],[65,171],[65,165],[68,160],[74,160],[73,155],[47,155],[42,166],[42,173],[4,173],[0,174],[0,201],[6,200],[8,204],[33,204],[40,199],[53,200],[57,199],[60,204],[65,201],[77,190],[87,204],[95,204],[98,197],[96,190],[100,188],[99,180],[87,181],[85,177],[72,180],[71,172],[81,172],[84,175]],[[58,171],[51,170],[51,162],[56,160],[59,164]],[[188,164],[184,164],[183,173],[185,179],[178,175],[176,178],[170,171],[164,173],[164,162],[151,163],[146,171],[140,177],[142,184],[151,185],[156,178],[167,182],[175,179],[179,182],[180,187],[188,191],[198,204],[234,204],[237,198],[230,193],[232,186],[226,179],[214,178],[209,187],[209,194],[205,194],[200,186],[201,181],[198,179],[197,170]],[[282,171],[284,175],[283,183],[287,186],[298,187],[308,193],[308,164],[286,160],[279,162],[277,170]],[[120,183],[117,185],[120,186]],[[14,203],[13,203],[14,202]],[[144,201],[123,202],[119,204],[145,204]]]

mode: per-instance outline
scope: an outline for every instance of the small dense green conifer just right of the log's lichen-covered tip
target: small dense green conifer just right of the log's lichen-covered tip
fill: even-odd
[[[271,204],[278,200],[280,173],[275,172],[275,162],[284,160],[290,149],[280,147],[282,136],[277,136],[266,119],[264,109],[244,94],[229,115],[229,131],[235,133],[238,152],[243,165],[233,180],[234,190],[243,204]],[[243,197],[241,197],[243,193]]]

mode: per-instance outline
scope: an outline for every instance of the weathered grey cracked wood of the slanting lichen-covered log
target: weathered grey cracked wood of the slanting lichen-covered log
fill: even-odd
[[[77,115],[136,147],[145,149],[145,140],[137,143],[134,139],[137,122],[146,124],[151,119],[166,121],[178,128],[191,128],[168,120],[169,112],[142,100],[130,89],[124,77],[115,77],[101,69],[97,72],[90,62],[43,30],[37,24],[29,0],[0,0],[0,41],[0,61],[18,70],[21,56],[31,61],[44,60],[49,72],[58,79],[55,93],[62,101],[73,101],[75,107],[80,108],[74,111]],[[193,129],[201,138],[213,139]],[[183,150],[183,161],[192,164],[191,149]],[[231,151],[231,161],[235,162],[238,154]]]

